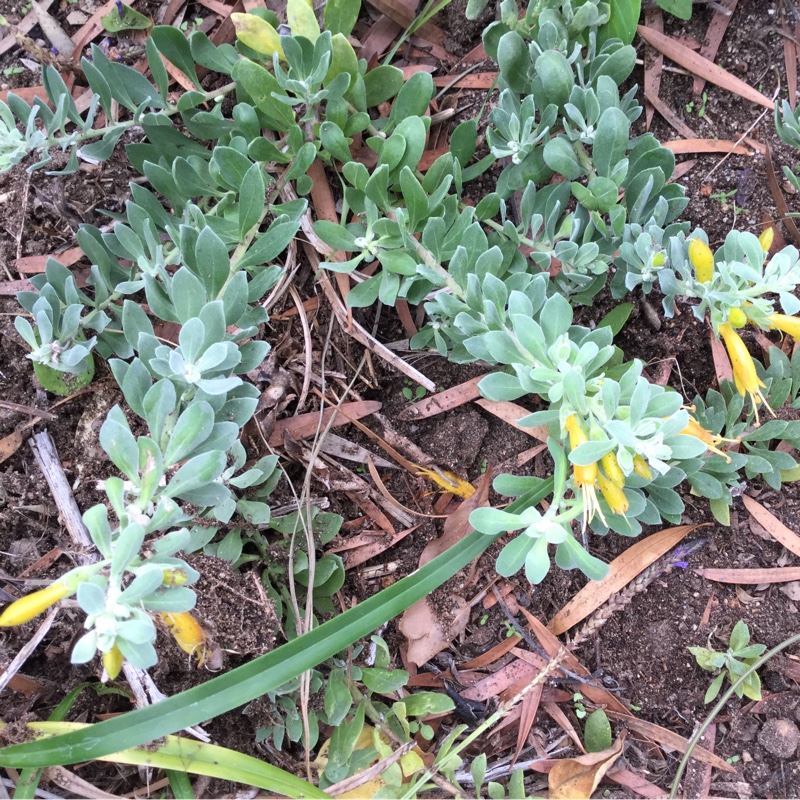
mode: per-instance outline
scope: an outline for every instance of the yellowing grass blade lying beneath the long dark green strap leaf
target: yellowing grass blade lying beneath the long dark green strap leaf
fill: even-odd
[[[91,734],[99,725],[87,725],[81,722],[31,722],[28,727],[36,733],[52,736],[53,734],[84,733]],[[273,767],[265,761],[253,756],[237,753],[227,747],[219,747],[205,742],[196,742],[180,736],[168,736],[166,741],[154,750],[128,748],[99,758],[98,761],[109,761],[115,764],[147,765],[156,769],[165,769],[185,779],[186,773],[208,775],[211,778],[258,786],[270,792],[287,797],[327,798],[321,789],[292,775],[291,772]],[[172,786],[172,779],[170,779]],[[188,785],[188,794],[185,793]],[[176,795],[177,797],[178,795]],[[193,797],[191,784],[184,781],[180,797]]]

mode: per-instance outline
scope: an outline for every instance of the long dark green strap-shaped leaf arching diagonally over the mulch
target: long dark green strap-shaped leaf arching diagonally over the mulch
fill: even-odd
[[[473,532],[417,572],[249,664],[160,703],[84,730],[3,748],[0,766],[50,767],[101,758],[249,703],[396,617],[441,586],[498,538]]]

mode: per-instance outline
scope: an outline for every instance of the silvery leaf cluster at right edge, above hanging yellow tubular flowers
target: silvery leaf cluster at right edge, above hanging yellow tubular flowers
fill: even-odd
[[[692,236],[706,239],[702,231]],[[715,331],[728,321],[732,308],[743,305],[751,322],[771,330],[768,318],[776,312],[776,302],[772,299],[775,295],[783,313],[794,315],[800,311],[800,300],[794,295],[800,285],[800,254],[796,247],[789,245],[769,257],[757,236],[730,231],[714,256],[714,273],[706,283],[695,278],[687,249],[687,241],[673,237],[667,248],[669,269],[658,273],[668,316],[675,313],[678,296],[698,299],[700,302],[692,306],[694,315],[703,320],[708,313]]]

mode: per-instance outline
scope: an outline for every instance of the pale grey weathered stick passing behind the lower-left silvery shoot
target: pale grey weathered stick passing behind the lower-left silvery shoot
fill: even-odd
[[[89,534],[89,529],[81,517],[78,504],[75,502],[75,498],[69,488],[67,476],[64,474],[55,444],[48,431],[44,430],[33,436],[30,446],[36,463],[50,487],[59,516],[64,522],[64,527],[67,529],[72,541],[80,548],[80,551],[75,554],[75,560],[81,565],[93,564],[98,560],[97,550]],[[137,669],[128,661],[123,663],[122,669],[136,699],[137,708],[144,708],[150,705],[151,702],[157,703],[165,697],[158,691],[152,678],[144,670]],[[145,686],[147,686],[148,691],[145,691]],[[150,695],[149,698],[148,694]],[[211,737],[199,726],[185,728],[184,730],[201,741],[211,741]]]

